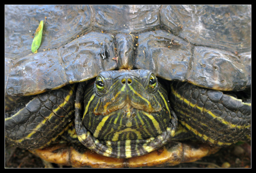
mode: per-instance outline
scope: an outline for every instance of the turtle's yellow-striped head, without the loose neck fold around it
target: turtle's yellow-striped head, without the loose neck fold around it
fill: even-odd
[[[167,92],[149,70],[105,71],[91,88],[82,121],[100,140],[156,137],[170,123]]]

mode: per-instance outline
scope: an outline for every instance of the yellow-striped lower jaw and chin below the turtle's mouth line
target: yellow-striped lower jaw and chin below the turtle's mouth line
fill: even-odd
[[[168,111],[165,108],[147,112],[143,107],[126,102],[107,115],[88,112],[82,123],[99,140],[143,140],[157,137],[166,130],[170,122],[166,112]]]

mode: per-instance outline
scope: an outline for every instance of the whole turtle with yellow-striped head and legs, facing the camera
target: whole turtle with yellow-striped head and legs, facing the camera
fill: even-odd
[[[251,6],[5,6],[6,145],[162,167],[250,141],[250,33]]]

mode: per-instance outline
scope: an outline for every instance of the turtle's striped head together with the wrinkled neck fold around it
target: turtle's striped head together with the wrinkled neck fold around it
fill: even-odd
[[[139,156],[160,148],[175,131],[167,91],[150,70],[101,72],[85,87],[75,124],[89,149],[110,157]]]

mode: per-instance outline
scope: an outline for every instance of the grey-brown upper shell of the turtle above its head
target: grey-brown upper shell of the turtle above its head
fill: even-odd
[[[250,88],[251,6],[5,6],[6,95],[35,95],[119,69],[216,90]]]

